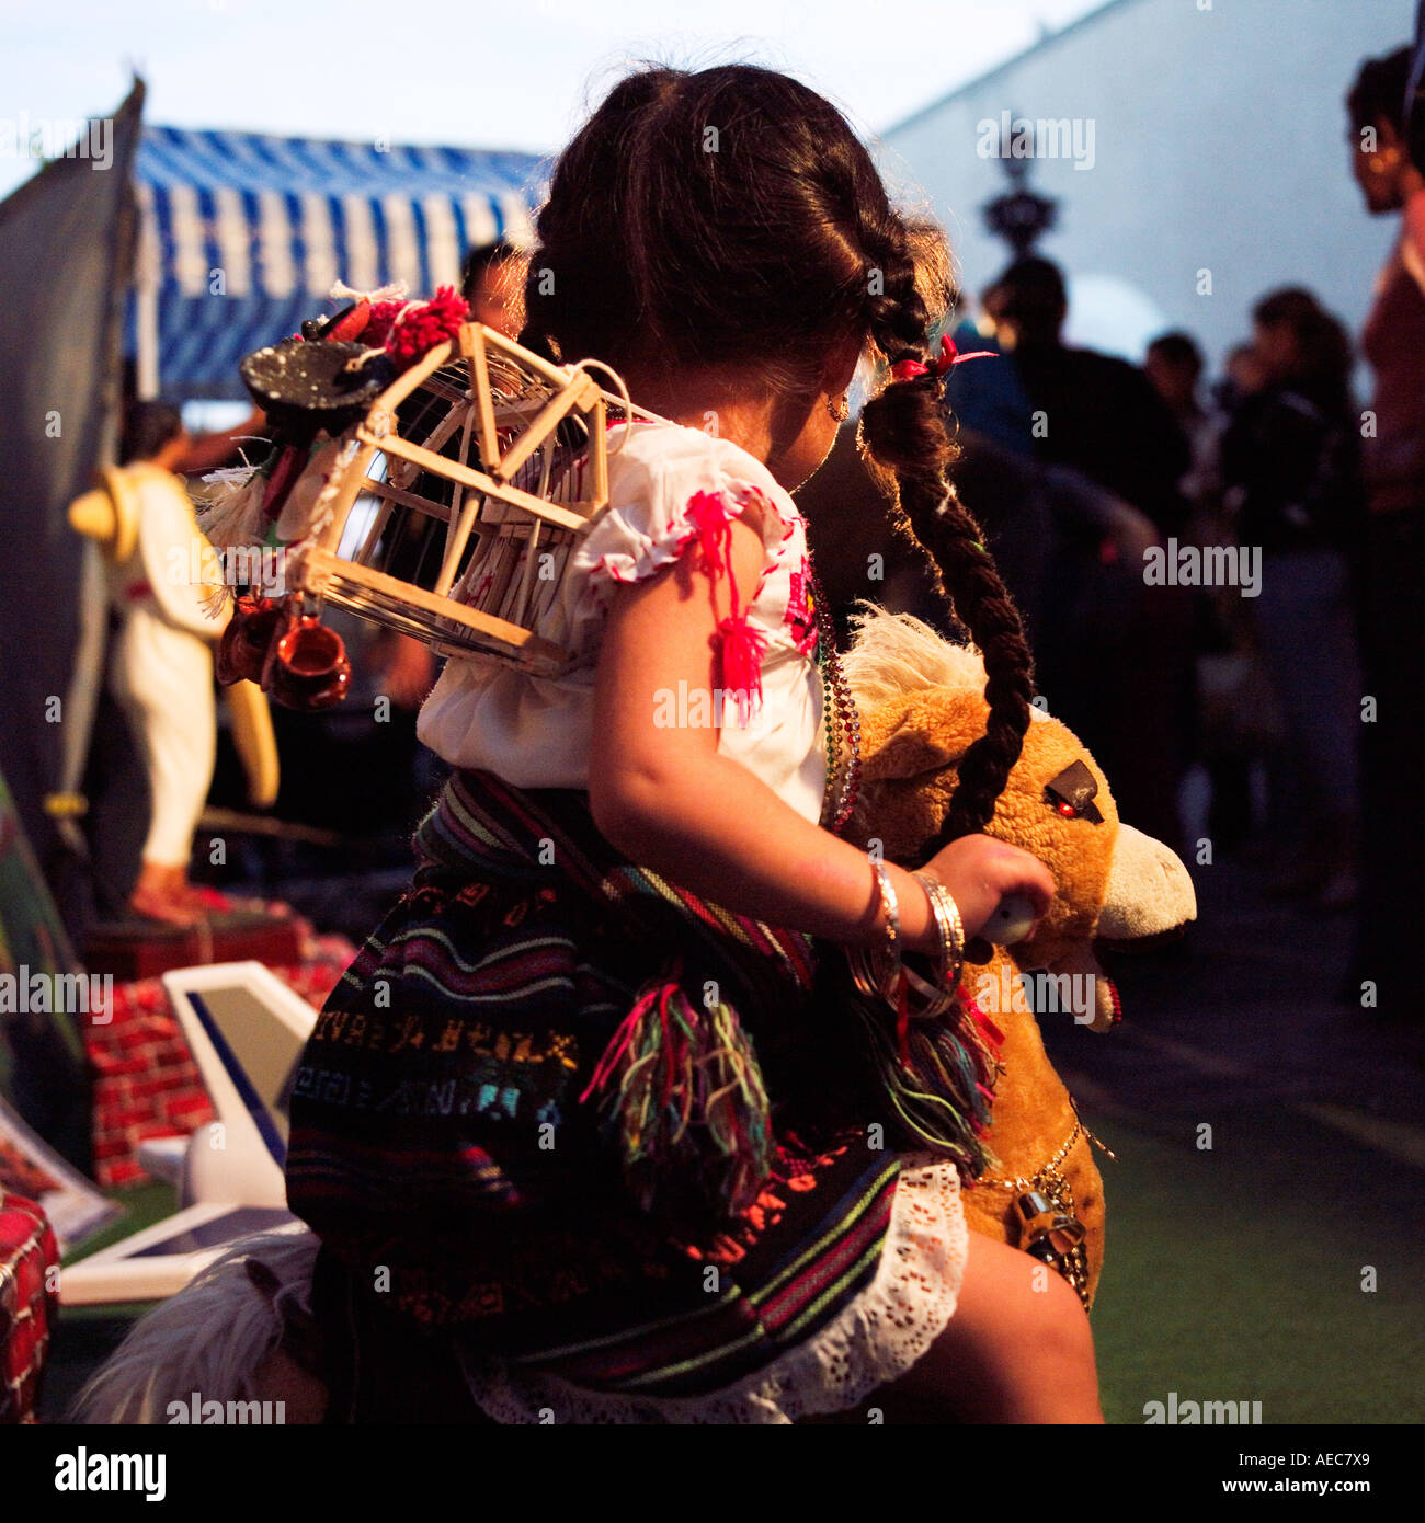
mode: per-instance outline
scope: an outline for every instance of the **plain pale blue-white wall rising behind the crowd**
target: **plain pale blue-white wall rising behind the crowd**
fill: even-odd
[[[887,131],[882,168],[928,196],[978,292],[1009,259],[980,215],[1007,180],[980,157],[978,123],[1082,119],[1091,168],[1030,166],[1030,186],[1061,198],[1038,251],[1081,297],[1071,338],[1142,358],[1161,318],[1216,361],[1248,337],[1251,303],[1286,283],[1356,332],[1395,219],[1363,209],[1343,97],[1359,61],[1408,41],[1413,20],[1414,0],[1116,0]],[[1212,295],[1196,294],[1202,268]]]

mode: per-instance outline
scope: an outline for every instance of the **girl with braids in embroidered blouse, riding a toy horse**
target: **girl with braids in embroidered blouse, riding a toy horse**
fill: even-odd
[[[448,663],[421,734],[457,772],[299,1071],[331,1421],[1100,1421],[1078,1298],[965,1229],[985,1031],[884,982],[1055,891],[980,833],[1033,688],[946,484],[945,265],[762,69],[636,73],[559,160],[521,340],[668,422],[610,434],[544,626],[584,659]],[[788,496],[866,356],[866,449],[989,678],[919,876],[837,836],[857,722]]]

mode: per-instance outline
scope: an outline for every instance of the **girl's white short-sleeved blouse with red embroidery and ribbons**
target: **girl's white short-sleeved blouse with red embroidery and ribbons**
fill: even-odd
[[[660,691],[655,722],[721,723],[718,751],[817,821],[826,784],[821,678],[806,525],[791,496],[730,440],[654,422],[610,431],[608,492],[608,510],[576,545],[536,624],[573,666],[536,676],[491,658],[451,658],[421,710],[421,739],[453,766],[482,768],[517,787],[587,787],[594,667],[613,594],[698,542],[700,500],[706,506],[703,493],[712,493],[727,518],[762,533],[757,586],[750,600],[738,588],[754,640],[764,641],[762,701],[744,708],[732,696]]]

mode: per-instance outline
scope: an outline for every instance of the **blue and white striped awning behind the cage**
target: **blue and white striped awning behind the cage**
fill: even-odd
[[[145,126],[133,346],[140,387],[241,398],[238,361],[334,311],[335,280],[459,285],[466,248],[527,235],[544,160]],[[154,373],[157,372],[157,375]]]

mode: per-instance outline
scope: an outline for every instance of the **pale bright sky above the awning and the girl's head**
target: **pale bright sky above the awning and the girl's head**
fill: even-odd
[[[1103,0],[0,0],[0,117],[553,152],[643,58],[754,61],[869,134]],[[21,134],[23,136],[23,134]],[[0,195],[35,161],[0,158]]]

